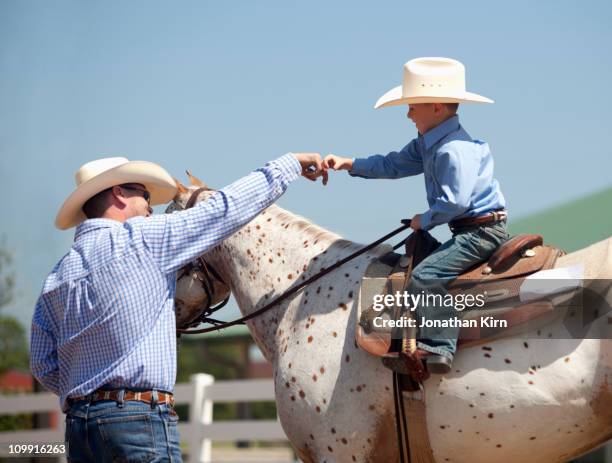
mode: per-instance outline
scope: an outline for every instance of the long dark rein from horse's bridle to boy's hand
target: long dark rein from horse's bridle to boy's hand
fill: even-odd
[[[195,202],[197,200],[198,195],[202,191],[204,191],[206,189],[207,188],[199,188],[199,189],[195,190],[191,194],[191,197],[189,198],[189,200],[187,201],[187,204],[185,205],[185,209],[189,209],[190,207],[193,207],[193,205],[195,204]],[[378,240],[374,241],[373,243],[370,243],[367,246],[364,246],[363,248],[355,251],[351,255],[349,255],[349,256],[347,256],[347,257],[337,261],[331,267],[321,268],[321,271],[319,271],[317,274],[315,274],[312,277],[304,280],[302,283],[294,286],[293,288],[289,288],[287,291],[285,291],[283,294],[278,296],[276,299],[273,299],[271,302],[269,302],[268,304],[264,305],[262,308],[256,310],[253,313],[250,313],[248,315],[245,315],[244,317],[241,317],[241,318],[238,318],[236,320],[229,321],[229,322],[225,322],[225,323],[222,323],[222,324],[220,324],[221,322],[219,322],[218,320],[214,320],[214,322],[212,322],[212,319],[209,319],[212,323],[215,323],[216,326],[211,326],[211,327],[208,327],[208,328],[201,328],[201,329],[197,329],[197,330],[177,330],[177,332],[179,332],[180,334],[203,334],[203,333],[210,333],[210,332],[213,332],[213,331],[219,331],[219,330],[222,330],[224,328],[229,328],[230,326],[243,324],[246,321],[251,320],[252,318],[255,318],[255,317],[257,317],[257,316],[267,312],[272,307],[274,307],[278,303],[284,301],[289,296],[292,296],[293,294],[297,293],[300,289],[304,288],[305,286],[309,285],[310,283],[312,283],[312,282],[318,280],[319,278],[327,275],[331,271],[333,271],[333,270],[337,269],[338,267],[346,264],[347,262],[349,262],[352,259],[360,256],[361,254],[369,251],[370,249],[375,248],[379,244],[384,243],[389,238],[397,235],[398,233],[403,232],[404,230],[406,230],[408,228],[410,228],[410,220],[409,219],[402,220],[402,226],[401,227],[396,228],[392,232],[387,233],[385,236],[379,238]],[[213,267],[210,264],[208,264],[208,267],[210,267],[210,269],[213,270]],[[216,271],[214,271],[214,272],[218,274],[218,272],[216,272]],[[221,281],[223,282],[223,280],[221,280]],[[225,284],[225,282],[223,282],[223,283]],[[225,303],[223,305],[225,305]],[[220,309],[221,307],[216,307],[215,310],[216,309]],[[208,309],[205,312],[209,313]],[[212,312],[210,312],[210,313],[212,313]]]

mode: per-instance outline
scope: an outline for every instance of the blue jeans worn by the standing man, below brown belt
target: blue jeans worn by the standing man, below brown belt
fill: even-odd
[[[166,404],[104,400],[66,413],[69,462],[182,462],[178,415]]]

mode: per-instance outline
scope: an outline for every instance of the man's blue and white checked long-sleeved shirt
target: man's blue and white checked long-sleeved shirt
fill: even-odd
[[[177,270],[251,221],[300,172],[286,154],[187,211],[81,223],[34,310],[34,376],[63,407],[101,386],[172,391]]]

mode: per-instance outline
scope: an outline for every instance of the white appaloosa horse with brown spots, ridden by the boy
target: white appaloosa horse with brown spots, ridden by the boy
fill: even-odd
[[[205,257],[248,314],[360,247],[271,206]],[[358,257],[248,323],[273,365],[278,414],[304,462],[398,460],[391,373],[355,343],[361,277],[388,250]],[[556,267],[575,263],[584,264],[585,278],[611,278],[612,239]],[[610,301],[612,292],[602,296]],[[584,339],[571,339],[556,321],[461,350],[452,373],[425,385],[436,461],[561,462],[611,439],[610,320],[602,314]]]

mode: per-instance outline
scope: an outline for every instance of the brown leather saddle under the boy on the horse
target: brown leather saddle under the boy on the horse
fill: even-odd
[[[376,318],[397,318],[397,308],[375,310],[375,295],[394,294],[406,287],[412,268],[433,252],[439,243],[427,232],[412,233],[406,240],[406,255],[389,253],[370,264],[362,279],[358,304],[356,341],[372,355],[382,356],[397,347],[397,329],[380,328]],[[536,318],[551,314],[550,300],[527,304],[519,302],[519,289],[525,278],[554,266],[563,251],[543,244],[541,235],[521,234],[504,242],[485,262],[469,269],[447,286],[449,294],[484,295],[484,310],[471,311],[463,319],[490,317],[487,326],[462,327],[459,332],[460,349],[509,336],[517,327]],[[411,333],[416,337],[416,329]],[[402,336],[400,335],[400,340]],[[393,345],[395,343],[395,345]]]

